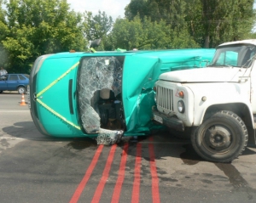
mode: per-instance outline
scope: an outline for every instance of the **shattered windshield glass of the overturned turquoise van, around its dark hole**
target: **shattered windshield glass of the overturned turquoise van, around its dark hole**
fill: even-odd
[[[111,134],[101,128],[98,102],[104,88],[112,90],[115,97],[121,93],[123,60],[113,56],[82,59],[78,72],[79,115],[86,133]]]

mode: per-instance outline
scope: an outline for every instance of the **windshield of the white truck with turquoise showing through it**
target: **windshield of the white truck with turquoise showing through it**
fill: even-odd
[[[208,66],[247,68],[254,54],[256,54],[256,47],[251,44],[219,47],[212,59],[212,64]]]

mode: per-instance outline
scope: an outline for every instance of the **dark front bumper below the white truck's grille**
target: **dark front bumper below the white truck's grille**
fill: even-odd
[[[173,128],[177,131],[184,131],[185,127],[183,121],[177,119],[174,116],[166,116],[165,114],[160,113],[158,110],[153,110],[154,121],[159,122],[160,124]]]

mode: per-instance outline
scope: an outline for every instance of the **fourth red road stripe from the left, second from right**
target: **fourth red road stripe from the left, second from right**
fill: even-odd
[[[135,168],[134,168],[134,180],[131,203],[137,203],[140,200],[140,183],[141,183],[141,162],[142,162],[142,144],[137,144]]]

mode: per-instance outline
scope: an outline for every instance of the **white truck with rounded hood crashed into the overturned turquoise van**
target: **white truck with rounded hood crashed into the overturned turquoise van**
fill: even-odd
[[[220,44],[206,68],[166,72],[155,83],[154,120],[190,132],[207,161],[230,162],[255,144],[256,40]]]

